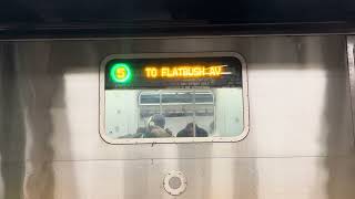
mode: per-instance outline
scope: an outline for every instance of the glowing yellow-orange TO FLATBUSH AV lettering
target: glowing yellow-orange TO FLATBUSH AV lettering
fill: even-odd
[[[219,77],[223,74],[225,65],[181,65],[181,66],[146,66],[145,77],[148,78],[195,78],[195,77]]]

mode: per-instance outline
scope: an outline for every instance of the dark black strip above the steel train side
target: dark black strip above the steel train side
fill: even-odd
[[[0,38],[348,33],[354,0],[2,0]]]

